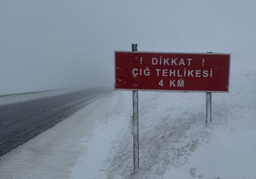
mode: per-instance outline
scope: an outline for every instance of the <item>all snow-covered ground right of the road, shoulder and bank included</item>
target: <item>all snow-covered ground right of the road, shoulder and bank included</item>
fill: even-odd
[[[229,93],[139,91],[140,171],[133,172],[132,92],[113,91],[0,158],[0,178],[256,178],[256,75]]]

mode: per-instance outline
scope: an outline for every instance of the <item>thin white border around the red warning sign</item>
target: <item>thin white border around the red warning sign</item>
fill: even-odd
[[[203,55],[229,55],[229,71],[228,71],[228,91],[188,91],[188,90],[152,90],[152,89],[116,89],[116,52],[128,52],[128,53],[167,53],[167,54],[203,54]],[[161,92],[229,92],[229,82],[230,82],[230,62],[231,53],[188,53],[188,52],[147,52],[147,51],[114,51],[114,62],[115,62],[115,82],[114,90],[125,90],[125,91],[161,91]]]

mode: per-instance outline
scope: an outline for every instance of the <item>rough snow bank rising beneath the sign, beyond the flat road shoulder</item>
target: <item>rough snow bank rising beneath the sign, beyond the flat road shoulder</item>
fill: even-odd
[[[255,178],[256,78],[246,74],[231,80],[229,93],[212,94],[208,127],[205,93],[139,92],[141,170],[132,175],[127,129],[106,160],[108,178]]]

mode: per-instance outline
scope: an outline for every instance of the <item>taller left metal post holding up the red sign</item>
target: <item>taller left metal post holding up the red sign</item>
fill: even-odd
[[[131,51],[137,51],[137,44],[131,44]],[[134,174],[139,171],[139,111],[138,111],[138,91],[132,91],[133,106],[133,162]]]

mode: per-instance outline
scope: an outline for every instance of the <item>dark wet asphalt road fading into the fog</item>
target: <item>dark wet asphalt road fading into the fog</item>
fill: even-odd
[[[91,88],[0,106],[0,156],[109,92],[109,89]]]

